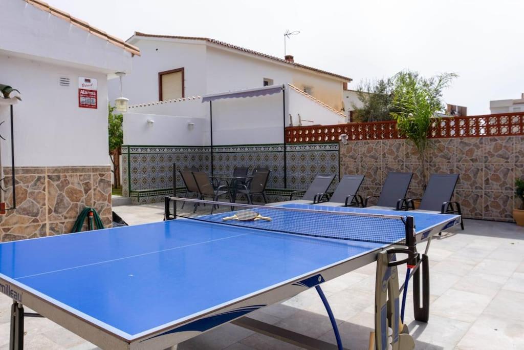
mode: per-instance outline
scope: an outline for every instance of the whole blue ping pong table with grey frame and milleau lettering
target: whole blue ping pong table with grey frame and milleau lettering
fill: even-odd
[[[255,329],[243,316],[317,287],[332,317],[323,282],[376,261],[407,235],[421,241],[461,220],[290,204],[246,206],[272,220],[225,224],[231,211],[171,220],[172,199],[163,222],[1,243],[10,348],[23,348],[24,317],[42,316],[104,349],[162,349],[227,322]]]

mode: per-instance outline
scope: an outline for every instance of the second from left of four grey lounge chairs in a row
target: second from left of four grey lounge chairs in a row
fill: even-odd
[[[364,201],[360,195],[357,195],[357,192],[363,181],[364,175],[344,175],[339,185],[336,186],[335,192],[320,196],[313,204],[330,207],[361,207]]]

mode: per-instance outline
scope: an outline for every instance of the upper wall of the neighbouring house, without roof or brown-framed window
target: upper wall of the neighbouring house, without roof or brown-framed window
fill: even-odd
[[[135,37],[140,48],[133,72],[123,78],[123,94],[130,104],[158,100],[158,72],[184,68],[185,97],[262,87],[264,78],[274,84],[292,83],[299,89],[313,87],[313,96],[342,108],[342,80],[268,58],[255,57],[203,40]],[[119,97],[117,80],[110,81],[110,101]]]

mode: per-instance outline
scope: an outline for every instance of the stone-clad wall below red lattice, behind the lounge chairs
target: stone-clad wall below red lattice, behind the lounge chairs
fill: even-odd
[[[524,177],[524,136],[433,139],[428,174],[460,174],[454,200],[467,218],[512,221],[518,205],[515,178]],[[408,192],[422,195],[422,167],[406,140],[350,141],[340,144],[341,176],[364,174],[361,194],[378,195],[390,171],[413,172]]]

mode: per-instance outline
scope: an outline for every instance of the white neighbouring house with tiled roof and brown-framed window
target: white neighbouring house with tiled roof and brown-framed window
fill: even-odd
[[[132,104],[290,83],[335,111],[343,108],[343,86],[351,78],[262,54],[222,41],[135,33],[127,43],[140,48],[133,73],[123,79]],[[119,96],[110,84],[110,100]]]

